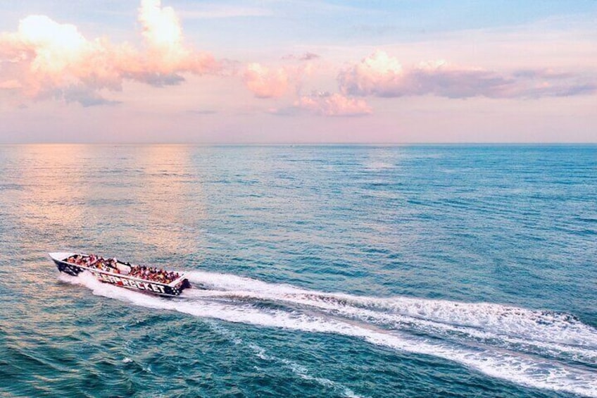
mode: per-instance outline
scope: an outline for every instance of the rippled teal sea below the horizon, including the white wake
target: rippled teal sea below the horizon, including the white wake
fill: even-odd
[[[0,175],[1,397],[597,397],[596,146],[4,145]]]

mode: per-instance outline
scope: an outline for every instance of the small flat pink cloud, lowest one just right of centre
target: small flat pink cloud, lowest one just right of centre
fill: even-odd
[[[303,96],[294,103],[294,106],[320,116],[365,116],[371,113],[370,106],[363,99],[328,92]]]

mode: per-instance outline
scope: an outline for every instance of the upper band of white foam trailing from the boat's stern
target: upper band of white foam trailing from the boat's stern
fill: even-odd
[[[290,285],[270,284],[252,278],[218,273],[193,271],[187,273],[191,282],[210,289],[203,294],[237,294],[261,298],[290,299],[302,304],[328,308],[370,309],[410,317],[413,321],[433,322],[451,330],[470,328],[471,331],[496,332],[496,335],[522,337],[524,341],[537,340],[586,346],[597,349],[597,330],[563,313],[532,311],[513,306],[489,303],[459,303],[456,301],[415,299],[410,297],[359,297],[303,290]],[[215,291],[217,292],[215,292]],[[201,293],[195,293],[201,294]],[[398,318],[405,321],[406,318]]]

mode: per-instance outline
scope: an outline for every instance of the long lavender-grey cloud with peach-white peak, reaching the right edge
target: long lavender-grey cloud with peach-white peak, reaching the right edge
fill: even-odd
[[[343,94],[376,97],[434,95],[448,98],[539,98],[591,94],[588,77],[546,70],[500,74],[482,68],[451,66],[446,61],[403,68],[384,51],[375,51],[338,75]]]

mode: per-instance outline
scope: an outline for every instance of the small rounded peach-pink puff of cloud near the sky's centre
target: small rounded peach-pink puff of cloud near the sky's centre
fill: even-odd
[[[282,97],[289,86],[289,76],[284,68],[267,68],[259,63],[250,63],[246,67],[243,80],[257,98]]]

